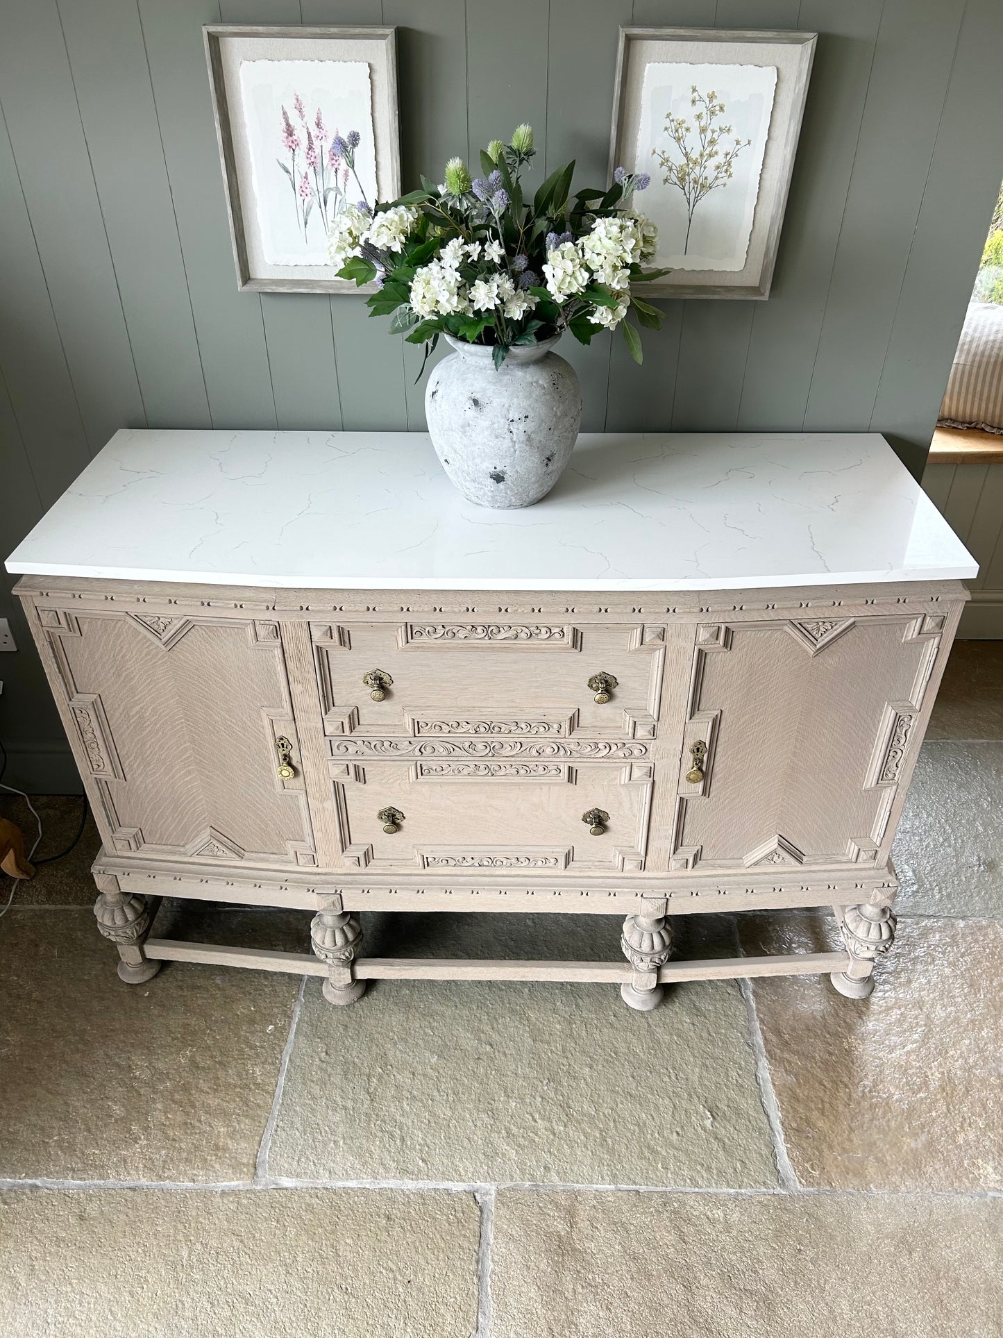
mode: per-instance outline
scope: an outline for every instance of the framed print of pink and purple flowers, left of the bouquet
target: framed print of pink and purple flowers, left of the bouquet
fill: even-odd
[[[336,278],[326,230],[400,193],[396,28],[202,29],[237,285],[368,293]]]

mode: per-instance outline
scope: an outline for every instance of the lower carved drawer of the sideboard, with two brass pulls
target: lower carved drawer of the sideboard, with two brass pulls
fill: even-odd
[[[651,776],[650,763],[333,763],[342,862],[373,870],[639,870]],[[600,835],[583,822],[590,809],[606,815]],[[385,831],[388,822],[397,831]]]

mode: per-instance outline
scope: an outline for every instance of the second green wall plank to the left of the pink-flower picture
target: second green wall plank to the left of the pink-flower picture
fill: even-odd
[[[139,11],[62,0],[60,17],[147,419],[210,427]]]

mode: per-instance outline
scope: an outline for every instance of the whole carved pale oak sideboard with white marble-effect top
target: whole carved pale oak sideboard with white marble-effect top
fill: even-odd
[[[100,828],[124,981],[832,974],[892,942],[905,787],[975,565],[875,435],[582,438],[526,511],[412,434],[123,431],[8,561]],[[150,937],[313,911],[314,955]],[[832,906],[840,951],[679,962]],[[365,955],[362,910],[623,917],[622,959]]]

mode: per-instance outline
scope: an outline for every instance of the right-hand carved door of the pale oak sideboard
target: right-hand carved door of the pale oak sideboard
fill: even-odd
[[[884,858],[943,622],[701,625],[671,867]]]

